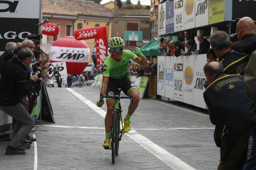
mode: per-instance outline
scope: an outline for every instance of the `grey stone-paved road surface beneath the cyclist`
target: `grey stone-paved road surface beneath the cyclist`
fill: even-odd
[[[0,141],[0,169],[177,169],[171,168],[152,154],[152,151],[130,138],[128,135],[132,133],[123,136],[120,153],[113,165],[111,151],[102,147],[105,138],[104,118],[66,88],[47,90],[56,123],[39,127],[48,132],[31,132],[37,138],[36,147],[32,144],[32,148],[23,156],[4,155],[8,142]],[[99,98],[99,88],[72,90],[92,103],[96,103]],[[121,101],[121,104],[125,116],[129,101]],[[219,149],[214,144],[214,126],[207,114],[182,106],[172,106],[166,101],[141,99],[138,109],[131,117],[131,128],[191,167],[198,170],[216,169]],[[106,111],[106,106],[102,109]]]

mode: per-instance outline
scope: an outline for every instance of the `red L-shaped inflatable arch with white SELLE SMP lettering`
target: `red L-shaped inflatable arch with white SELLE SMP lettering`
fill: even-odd
[[[107,57],[107,28],[105,26],[78,29],[75,31],[76,40],[96,38],[97,64],[103,64]]]

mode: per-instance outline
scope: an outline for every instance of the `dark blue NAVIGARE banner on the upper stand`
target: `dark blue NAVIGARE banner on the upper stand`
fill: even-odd
[[[166,2],[166,19],[165,19],[165,32],[174,32],[174,3],[173,1]]]

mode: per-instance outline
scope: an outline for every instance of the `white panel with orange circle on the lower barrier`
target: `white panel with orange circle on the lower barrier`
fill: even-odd
[[[183,102],[193,105],[194,91],[194,55],[184,56]]]

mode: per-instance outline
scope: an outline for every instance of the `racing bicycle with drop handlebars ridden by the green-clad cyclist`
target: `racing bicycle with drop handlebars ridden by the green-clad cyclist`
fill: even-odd
[[[133,95],[130,95],[130,97],[126,96],[120,96],[121,88],[118,88],[118,95],[113,96],[103,96],[102,93],[100,93],[100,102],[103,101],[103,98],[112,98],[115,99],[114,103],[114,109],[113,109],[113,115],[112,115],[112,125],[110,127],[110,148],[112,150],[112,163],[115,164],[115,158],[118,156],[118,150],[119,150],[119,141],[121,141],[121,138],[125,132],[123,132],[123,120],[122,120],[122,107],[120,104],[120,99],[130,99],[131,101],[131,107],[133,107]],[[120,129],[120,120],[122,123],[122,129]]]

